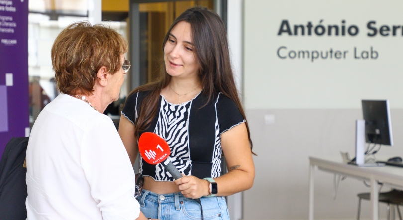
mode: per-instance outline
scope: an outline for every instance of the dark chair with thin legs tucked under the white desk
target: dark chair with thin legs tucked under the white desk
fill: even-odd
[[[361,200],[370,200],[370,193],[360,193],[357,196],[359,198],[357,220],[360,220]],[[402,220],[402,214],[400,213],[399,206],[403,205],[403,191],[393,189],[389,192],[380,193],[378,201],[387,204],[386,209],[388,212],[388,220],[390,220],[390,205],[396,205],[399,219]]]

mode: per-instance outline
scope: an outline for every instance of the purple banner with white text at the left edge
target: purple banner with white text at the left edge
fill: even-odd
[[[29,127],[28,0],[0,0],[0,157]]]

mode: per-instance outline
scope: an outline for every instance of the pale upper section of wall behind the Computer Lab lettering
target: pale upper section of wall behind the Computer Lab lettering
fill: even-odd
[[[401,0],[246,0],[245,92],[248,108],[359,108],[362,98],[388,98],[403,108],[402,28],[397,36],[367,36],[367,22],[403,25]],[[346,21],[359,27],[356,36],[278,36],[280,24],[314,27]],[[312,32],[313,29],[312,28]],[[305,30],[306,31],[306,30]],[[327,31],[327,27],[326,27]],[[280,59],[277,50],[348,51],[345,59]],[[362,50],[376,50],[378,59],[354,59]],[[284,56],[286,50],[282,50]],[[267,94],[262,99],[261,95]]]

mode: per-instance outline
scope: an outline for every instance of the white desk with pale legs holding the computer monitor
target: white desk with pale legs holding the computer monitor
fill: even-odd
[[[313,205],[314,205],[314,183],[315,169],[326,172],[342,174],[345,176],[368,180],[371,184],[371,214],[372,220],[378,220],[378,182],[382,182],[392,187],[403,188],[403,168],[393,166],[383,167],[358,167],[342,163],[342,160],[321,159],[309,157],[309,220],[313,220]]]

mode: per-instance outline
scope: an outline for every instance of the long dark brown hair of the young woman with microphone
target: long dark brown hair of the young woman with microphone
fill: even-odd
[[[202,7],[193,7],[184,11],[172,23],[165,35],[162,49],[168,40],[172,28],[180,21],[185,21],[191,25],[192,40],[195,45],[195,57],[199,63],[199,77],[203,88],[203,95],[208,97],[208,103],[214,94],[222,93],[232,99],[238,106],[242,116],[246,118],[235,86],[231,61],[229,58],[227,32],[221,18],[213,11]],[[135,133],[138,137],[141,131],[146,130],[157,113],[158,100],[161,90],[167,87],[171,81],[171,76],[166,72],[165,65],[162,74],[156,82],[148,83],[134,89],[131,93],[139,91],[149,91],[140,107],[140,114],[135,121]],[[252,140],[248,123],[245,122],[249,144],[252,149]]]

